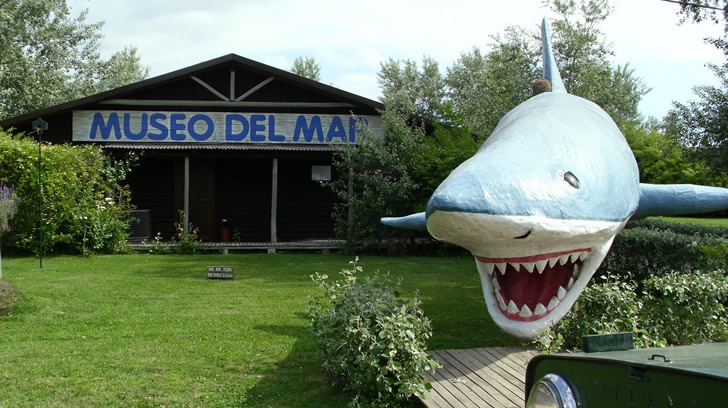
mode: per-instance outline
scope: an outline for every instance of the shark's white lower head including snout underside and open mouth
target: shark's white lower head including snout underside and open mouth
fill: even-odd
[[[433,237],[470,251],[488,313],[532,339],[569,312],[626,221],[433,211]]]

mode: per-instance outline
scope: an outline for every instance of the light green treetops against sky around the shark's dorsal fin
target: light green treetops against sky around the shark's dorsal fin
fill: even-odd
[[[599,25],[608,0],[547,0],[559,18],[552,24],[554,53],[567,90],[600,105],[618,123],[639,120],[638,103],[649,89],[629,66],[614,65]],[[531,97],[541,77],[540,32],[508,27],[492,37],[487,51],[461,54],[443,77],[437,62],[423,57],[382,63],[382,101],[391,109],[439,120],[452,103],[461,126],[486,138],[503,114]]]

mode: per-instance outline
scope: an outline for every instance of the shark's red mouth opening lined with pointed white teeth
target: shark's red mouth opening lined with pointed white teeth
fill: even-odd
[[[548,316],[564,300],[591,251],[475,258],[488,273],[501,313],[510,320],[531,322]]]

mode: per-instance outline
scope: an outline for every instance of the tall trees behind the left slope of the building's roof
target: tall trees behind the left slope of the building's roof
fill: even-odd
[[[104,61],[103,23],[71,17],[65,0],[14,0],[0,8],[0,118],[144,79],[136,49]],[[123,69],[123,73],[112,72]]]

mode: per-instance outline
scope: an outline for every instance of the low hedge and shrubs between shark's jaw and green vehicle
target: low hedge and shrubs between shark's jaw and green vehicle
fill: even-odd
[[[632,332],[637,347],[728,341],[728,228],[633,222],[578,306],[535,340],[546,351],[582,336]]]

